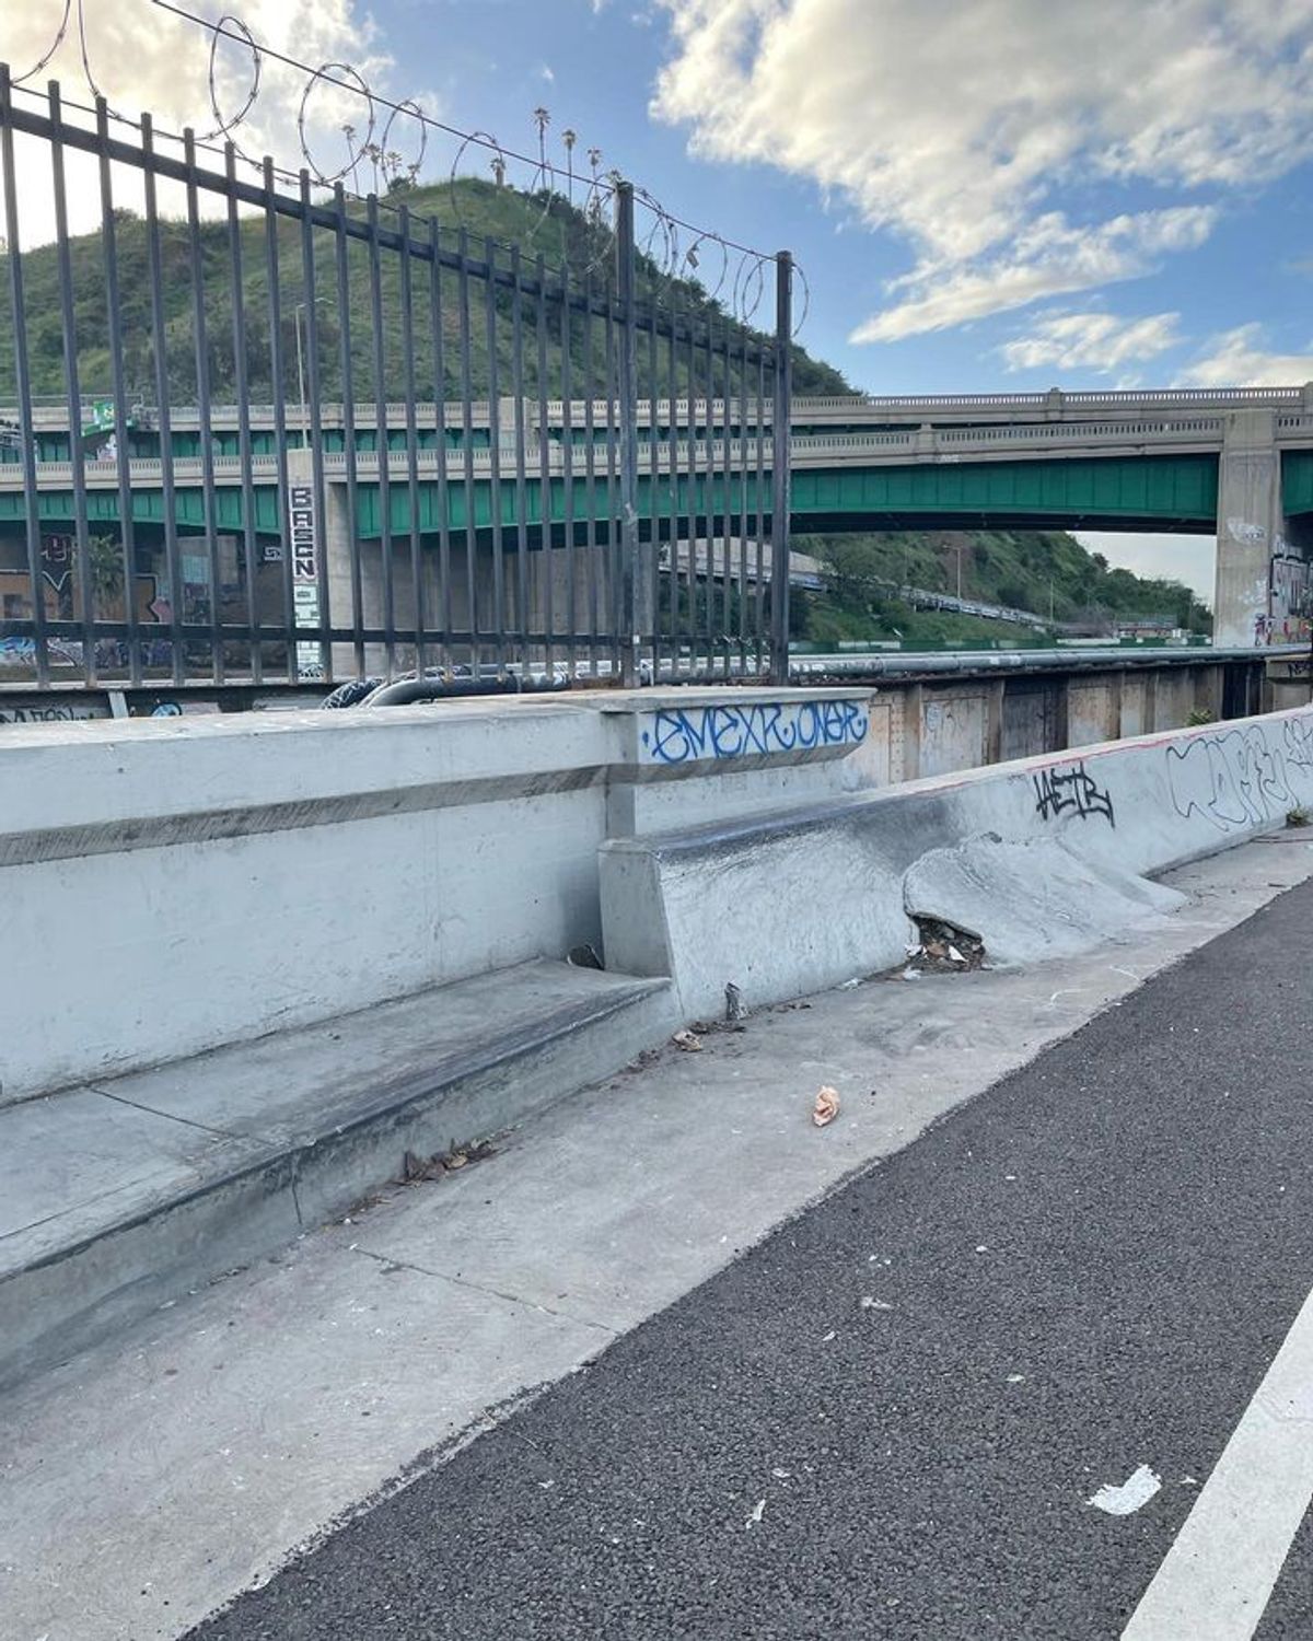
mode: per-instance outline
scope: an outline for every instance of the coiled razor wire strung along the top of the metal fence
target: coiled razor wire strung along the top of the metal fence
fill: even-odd
[[[535,158],[504,144],[491,131],[463,131],[458,126],[448,125],[446,121],[425,112],[425,108],[422,108],[414,98],[407,97],[399,102],[392,100],[376,90],[366,75],[350,62],[330,61],[322,62],[317,67],[309,62],[302,62],[300,59],[256,39],[243,18],[233,11],[225,11],[212,21],[210,18],[187,10],[185,5],[179,5],[177,0],[149,0],[149,3],[161,11],[167,11],[199,30],[204,30],[208,34],[210,49],[207,62],[207,92],[213,125],[200,135],[192,135],[192,141],[197,148],[210,153],[222,153],[226,158],[226,149],[231,146],[235,156],[245,164],[254,171],[263,171],[264,156],[248,153],[246,148],[243,148],[238,133],[245,136],[243,126],[249,125],[249,118],[259,103],[261,87],[266,82],[266,64],[276,62],[284,69],[289,69],[294,75],[302,77],[300,98],[297,102],[295,113],[297,146],[300,149],[305,172],[310,176],[312,182],[322,187],[332,189],[343,182],[348,176],[353,184],[356,184],[358,171],[363,162],[369,162],[374,167],[376,194],[379,172],[386,190],[391,190],[397,181],[415,182],[428,153],[430,133],[441,133],[445,138],[456,143],[455,158],[448,174],[448,194],[460,228],[468,230],[469,226],[460,182],[461,164],[466,161],[471,149],[478,149],[487,158],[489,169],[492,171],[497,185],[506,184],[506,177],[512,164],[525,167],[528,181],[524,192],[528,197],[542,200],[542,210],[530,223],[525,236],[530,246],[535,245],[540,231],[551,220],[553,203],[558,199],[563,199],[571,207],[574,203],[574,182],[576,179],[579,182],[584,181],[574,169],[574,146],[578,143],[578,135],[570,128],[561,133],[566,162],[565,167],[558,166],[547,151],[547,128],[551,121],[547,108],[537,108],[533,113],[538,126],[538,153]],[[97,84],[90,49],[87,46],[85,0],[62,0],[62,11],[51,44],[41,54],[39,61],[33,64],[33,67],[11,77],[11,85],[15,89],[25,89],[26,82],[36,79],[36,75],[49,66],[59,48],[67,39],[69,28],[74,20],[77,25],[77,48],[82,61],[82,74],[92,95],[105,107],[105,112],[112,120],[123,125],[135,125],[136,121],[110,105],[108,98]],[[235,112],[228,113],[225,113],[222,102],[222,72],[218,56],[223,43],[240,46],[243,53],[249,56],[251,64],[245,100]],[[358,126],[355,121],[345,121],[340,126],[341,135],[346,139],[346,158],[336,169],[333,169],[332,162],[322,164],[315,154],[315,148],[312,146],[312,126],[315,121],[310,117],[310,107],[313,94],[322,87],[346,94],[363,103],[363,125]],[[71,100],[66,105],[69,108],[80,108],[79,103]],[[386,110],[386,118],[379,126],[382,110]],[[90,108],[82,112],[94,115],[97,110]],[[409,120],[419,128],[415,148],[409,161],[391,146],[394,130],[400,120]],[[176,133],[167,133],[159,128],[156,128],[156,135],[182,141],[182,138]],[[376,135],[377,141],[374,141]],[[220,143],[223,144],[222,148],[217,146]],[[606,202],[614,199],[615,189],[624,177],[619,171],[602,169],[602,151],[599,148],[589,148],[586,153],[589,158],[589,172],[581,212],[584,222],[594,231],[589,235],[589,258],[583,272],[592,276],[601,271],[612,245],[612,233],[606,223]],[[299,174],[289,171],[287,167],[271,162],[271,169],[274,176],[291,184],[297,184],[300,181]],[[566,179],[565,192],[560,190],[560,179],[563,172]],[[758,251],[753,246],[740,245],[716,230],[699,228],[684,222],[681,217],[666,210],[656,195],[640,184],[634,185],[634,202],[635,207],[643,208],[650,215],[647,233],[642,236],[635,235],[635,238],[638,238],[638,249],[643,258],[656,272],[655,300],[671,302],[678,284],[696,282],[709,302],[716,304],[724,300],[724,305],[729,307],[734,318],[743,325],[752,325],[765,295],[765,269],[768,264],[775,263],[775,256],[771,253]],[[391,203],[386,200],[386,192],[381,203]],[[702,256],[709,248],[719,251],[721,263],[714,286],[701,272]],[[568,261],[565,254],[568,249],[565,218],[561,218],[560,249],[563,253],[563,263]],[[796,336],[806,323],[806,317],[811,310],[811,289],[807,286],[806,274],[798,263],[794,263],[794,271],[798,272],[803,286],[801,317],[798,318],[793,331]],[[722,299],[722,292],[725,292],[727,284],[729,292]]]

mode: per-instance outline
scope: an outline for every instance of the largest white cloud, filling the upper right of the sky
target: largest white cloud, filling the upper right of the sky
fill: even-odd
[[[1308,5],[661,3],[673,49],[655,117],[688,125],[694,153],[809,177],[913,245],[916,294],[858,327],[858,340],[1134,277],[1215,222],[1196,217],[1180,243],[1137,251],[1118,225],[1142,222],[1152,240],[1170,208],[1083,226],[1054,210],[1057,189],[1147,181],[1224,194],[1313,153]],[[1065,253],[1027,253],[1042,223]],[[1093,241],[1087,254],[1082,238]]]

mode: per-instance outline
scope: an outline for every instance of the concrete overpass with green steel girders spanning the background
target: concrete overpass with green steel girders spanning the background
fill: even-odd
[[[543,414],[545,409],[545,414]],[[3,415],[3,412],[0,412]],[[51,525],[74,515],[74,466],[64,404],[34,407],[38,510]],[[243,458],[236,407],[215,407],[208,440],[195,410],[172,409],[176,527],[253,527],[281,540],[279,445],[309,463],[300,418],[279,430],[271,405],[248,412]],[[387,404],[379,438],[374,407],[355,407],[346,448],[340,405],[320,410],[320,459],[333,548],[350,528],[346,486],[356,489],[359,542],[423,538],[443,528],[489,533],[524,523],[581,537],[586,520],[604,540],[614,504],[612,407],[510,399],[468,407]],[[638,404],[638,510],[663,540],[707,533],[735,519],[763,528],[770,515],[770,402],[752,399]],[[108,435],[107,435],[108,437]],[[386,456],[379,445],[387,445]],[[412,455],[414,451],[414,455]],[[11,455],[11,453],[10,453]],[[158,422],[141,405],[117,433],[113,459],[82,461],[87,512],[118,519],[120,459],[128,459],[133,519],[162,530]],[[103,446],[102,446],[103,458]],[[1313,545],[1313,384],[1226,391],[1169,389],[1111,394],[963,394],[827,397],[793,402],[794,530],[1100,528],[1213,533],[1218,542],[1216,637],[1254,645],[1290,630],[1308,609],[1306,553]],[[382,478],[389,505],[381,507]],[[419,517],[410,517],[410,496]],[[16,546],[28,501],[16,459],[0,461],[0,553]],[[16,568],[16,565],[15,565]]]

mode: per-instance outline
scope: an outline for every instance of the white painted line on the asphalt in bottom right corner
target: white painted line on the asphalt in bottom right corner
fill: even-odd
[[[1121,1641],[1247,1641],[1313,1498],[1313,1293]]]

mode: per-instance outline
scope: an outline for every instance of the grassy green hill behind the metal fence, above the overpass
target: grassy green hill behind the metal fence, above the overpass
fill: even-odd
[[[412,235],[420,240],[428,236],[428,220],[440,223],[443,243],[455,249],[460,230],[464,228],[471,256],[483,258],[486,241],[499,241],[496,249],[497,264],[509,269],[507,245],[520,245],[522,271],[527,279],[535,276],[535,258],[542,256],[548,269],[548,284],[558,279],[556,269],[571,269],[571,284],[578,289],[584,276],[591,271],[601,294],[611,271],[612,253],[611,236],[596,223],[589,222],[583,212],[568,205],[560,195],[530,197],[510,187],[497,187],[494,182],[481,179],[461,179],[458,184],[433,184],[410,187],[394,194],[387,205],[381,207],[381,226],[399,230],[399,215],[394,208],[404,203],[412,217]],[[350,215],[364,220],[366,207],[350,205]],[[125,346],[125,376],[133,395],[154,400],[154,351],[151,328],[149,297],[149,264],[146,225],[141,217],[131,212],[118,212],[115,217],[115,238],[118,248],[118,282],[121,300],[121,333]],[[179,400],[195,400],[197,366],[195,366],[195,317],[192,289],[192,258],[185,222],[164,220],[161,223],[161,263],[164,287],[164,348],[167,359],[167,377],[171,394]],[[348,302],[346,320],[351,335],[351,384],[358,399],[369,400],[376,392],[376,358],[374,358],[374,323],[373,323],[373,287],[369,276],[369,246],[359,240],[348,240]],[[207,354],[210,369],[210,392],[215,402],[228,400],[236,391],[236,364],[233,353],[233,304],[231,304],[231,249],[228,243],[226,223],[205,222],[199,230],[202,286],[205,292],[204,315],[207,331]],[[246,377],[253,400],[268,402],[272,394],[271,373],[271,331],[269,331],[269,272],[266,256],[266,225],[263,217],[246,217],[240,226],[241,256],[241,300],[245,309],[245,354]],[[80,235],[72,240],[72,294],[74,322],[77,333],[77,363],[80,387],[84,394],[108,394],[112,384],[110,351],[108,351],[108,315],[105,307],[105,266],[102,253],[102,236],[98,233]],[[7,256],[0,256],[0,277],[8,286]],[[382,309],[382,387],[387,399],[400,399],[405,394],[405,354],[402,348],[402,289],[400,289],[400,256],[384,249],[379,258],[379,292]],[[282,389],[289,397],[295,397],[297,386],[297,304],[305,300],[305,277],[302,261],[300,225],[292,218],[279,218],[277,223],[277,267],[282,345]],[[338,305],[338,269],[335,235],[327,230],[315,231],[313,256],[315,297],[318,313],[318,348],[320,348],[320,384],[328,399],[341,394],[341,312]],[[433,394],[433,346],[432,318],[427,271],[420,263],[412,264],[412,354],[415,371],[415,391],[420,397]],[[53,245],[39,246],[23,256],[25,310],[28,328],[28,353],[33,373],[34,394],[61,394],[64,391],[64,333],[59,317],[59,266]],[[460,312],[461,289],[455,274],[448,272],[441,281],[443,299],[443,397],[455,399],[461,392],[461,348],[460,348]],[[640,259],[638,292],[652,297],[653,290],[663,286],[658,271],[647,258]],[[753,282],[755,290],[755,282]],[[487,286],[481,279],[468,282],[469,305],[469,373],[474,397],[484,397],[489,387],[489,343],[487,343]],[[693,284],[676,281],[670,289],[661,290],[663,300],[678,305],[684,317],[693,315],[699,327],[712,323],[717,346],[725,330],[732,338],[732,351],[742,345],[743,327],[729,320],[721,307],[712,304],[706,292]],[[762,313],[768,313],[771,294],[763,295]],[[497,368],[499,391],[510,391],[512,363],[512,310],[515,299],[509,289],[496,292],[496,331],[497,331]],[[537,340],[537,302],[522,299],[520,320],[524,327],[524,374],[525,391],[538,391],[538,340]],[[543,322],[547,335],[547,392],[550,397],[561,394],[563,363],[563,315],[560,302],[543,305]],[[302,325],[302,331],[304,331]],[[570,359],[571,391],[574,397],[586,392],[583,381],[584,363],[584,325],[576,313],[571,315],[570,327]],[[594,387],[604,391],[602,358],[604,338],[602,325],[592,327],[592,369]],[[676,359],[675,386],[688,384],[686,350]],[[647,336],[640,333],[638,371],[640,395],[647,395],[653,386],[647,373]],[[704,356],[699,356],[699,387],[704,386]],[[717,359],[717,391],[722,386],[721,364]],[[732,381],[737,386],[739,371],[734,369]],[[0,327],[0,394],[8,392],[13,382],[13,333],[5,323]],[[799,394],[842,394],[852,389],[827,364],[814,361],[806,350],[794,348],[794,384]],[[750,373],[750,387],[755,391],[757,371]],[[656,356],[656,392],[670,389],[670,368],[665,345],[658,345]]]

